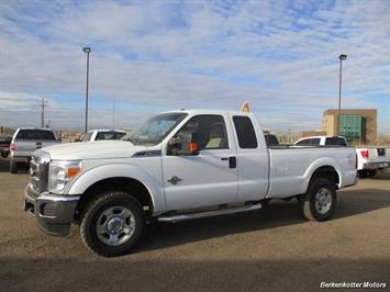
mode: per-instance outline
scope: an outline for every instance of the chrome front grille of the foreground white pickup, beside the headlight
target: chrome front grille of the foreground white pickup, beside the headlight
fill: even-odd
[[[42,193],[47,191],[48,164],[51,157],[43,150],[34,151],[30,161],[30,187],[33,192]]]

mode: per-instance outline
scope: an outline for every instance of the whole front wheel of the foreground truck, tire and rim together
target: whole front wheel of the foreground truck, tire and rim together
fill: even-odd
[[[134,196],[108,192],[92,201],[80,224],[83,244],[93,252],[113,257],[129,251],[144,227],[142,207]]]

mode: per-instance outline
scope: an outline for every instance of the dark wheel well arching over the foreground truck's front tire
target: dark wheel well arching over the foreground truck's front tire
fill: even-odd
[[[93,183],[83,192],[76,207],[75,221],[77,222],[81,217],[91,200],[108,191],[127,192],[140,202],[146,215],[153,213],[151,193],[142,182],[131,178],[109,178]]]

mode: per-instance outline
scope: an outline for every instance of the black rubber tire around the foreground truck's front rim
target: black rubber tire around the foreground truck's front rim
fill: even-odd
[[[104,243],[98,235],[98,220],[103,212],[113,206],[125,207],[134,215],[135,227],[131,237],[123,244],[112,246]],[[129,252],[137,243],[144,228],[144,216],[138,201],[125,192],[114,191],[103,193],[87,206],[80,224],[80,235],[83,244],[93,252],[103,257],[114,257]],[[109,223],[107,223],[107,226]]]

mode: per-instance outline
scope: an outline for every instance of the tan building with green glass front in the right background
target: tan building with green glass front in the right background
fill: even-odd
[[[377,142],[377,110],[327,110],[323,115],[323,130],[328,136],[345,136],[355,144]]]

